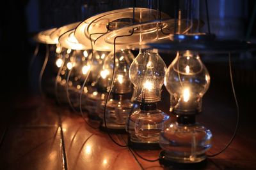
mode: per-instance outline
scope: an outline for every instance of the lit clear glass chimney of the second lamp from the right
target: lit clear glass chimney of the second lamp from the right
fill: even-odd
[[[136,101],[160,101],[165,71],[166,65],[158,53],[147,51],[138,54],[129,69]]]

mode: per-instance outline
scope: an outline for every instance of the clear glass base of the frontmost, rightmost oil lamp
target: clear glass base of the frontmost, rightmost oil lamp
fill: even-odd
[[[211,148],[211,131],[200,124],[169,124],[160,133],[159,145],[164,159],[170,162],[191,164],[206,159]]]

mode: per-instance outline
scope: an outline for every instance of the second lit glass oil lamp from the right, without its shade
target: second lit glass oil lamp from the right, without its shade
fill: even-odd
[[[159,132],[169,116],[157,110],[161,100],[166,65],[156,50],[140,50],[129,69],[134,85],[134,99],[140,109],[131,113],[127,122],[129,145],[134,148],[154,149],[159,147]]]

